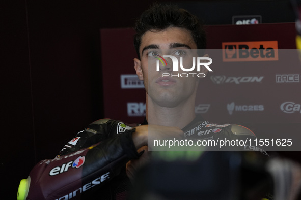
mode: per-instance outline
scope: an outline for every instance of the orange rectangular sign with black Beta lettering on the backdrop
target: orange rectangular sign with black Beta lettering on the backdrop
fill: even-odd
[[[278,60],[277,41],[223,42],[223,61]]]

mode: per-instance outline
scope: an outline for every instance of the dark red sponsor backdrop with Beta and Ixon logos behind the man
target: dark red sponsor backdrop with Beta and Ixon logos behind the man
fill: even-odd
[[[213,72],[200,82],[196,113],[215,123],[247,125],[260,136],[296,131],[301,122],[301,66],[294,50],[294,23],[206,30]],[[145,116],[144,86],[134,71],[133,34],[131,28],[100,31],[104,115],[128,123],[142,122]]]

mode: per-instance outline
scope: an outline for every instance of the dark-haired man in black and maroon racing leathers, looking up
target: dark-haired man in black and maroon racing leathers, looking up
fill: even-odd
[[[172,71],[168,59],[169,64],[162,62],[157,70],[149,65],[163,55],[184,57],[194,52],[191,50],[205,49],[205,30],[196,16],[174,5],[156,4],[136,21],[135,31],[138,58],[134,68],[145,84],[145,121],[126,124],[101,119],[91,123],[64,146],[60,155],[35,166],[24,180],[28,184],[23,197],[126,199],[131,180],[150,160],[149,136],[175,140],[255,137],[247,128],[209,123],[195,114],[198,77],[162,76]],[[208,67],[201,66],[198,71],[206,75]],[[19,199],[23,193],[19,190]]]

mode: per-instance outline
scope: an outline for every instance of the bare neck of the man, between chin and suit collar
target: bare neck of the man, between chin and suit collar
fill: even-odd
[[[189,98],[176,107],[161,107],[146,95],[146,119],[149,124],[184,128],[195,118],[195,101]]]

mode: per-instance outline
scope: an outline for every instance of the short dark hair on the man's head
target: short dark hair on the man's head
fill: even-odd
[[[203,23],[195,16],[176,5],[154,4],[136,20],[134,46],[140,59],[141,38],[148,30],[157,32],[169,27],[184,28],[191,32],[198,49],[206,48],[206,34]]]

